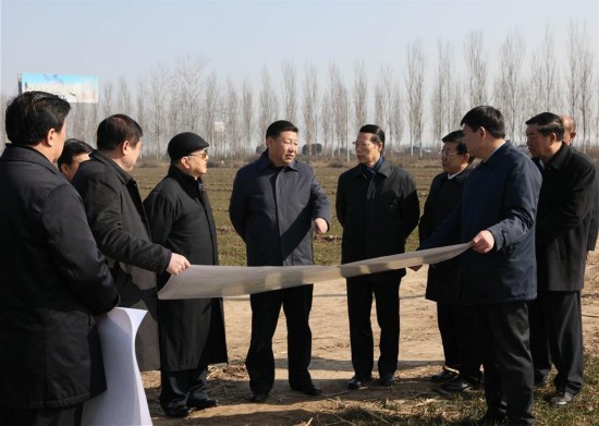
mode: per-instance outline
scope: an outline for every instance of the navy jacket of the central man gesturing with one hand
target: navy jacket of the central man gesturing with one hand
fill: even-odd
[[[229,217],[248,266],[313,265],[313,220],[331,222],[331,203],[302,161],[274,167],[268,150],[237,171]]]

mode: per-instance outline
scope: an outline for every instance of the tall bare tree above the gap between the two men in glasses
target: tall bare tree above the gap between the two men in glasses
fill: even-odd
[[[423,155],[424,133],[424,94],[426,59],[423,51],[423,42],[417,39],[407,47],[407,74],[405,87],[407,89],[407,125],[409,127],[409,148],[414,155],[415,143],[419,146],[419,155]]]

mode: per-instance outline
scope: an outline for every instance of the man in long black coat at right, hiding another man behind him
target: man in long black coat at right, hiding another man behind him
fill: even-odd
[[[561,406],[583,387],[580,290],[597,193],[596,167],[562,143],[564,127],[559,115],[543,112],[526,125],[528,150],[542,173],[536,228],[538,295],[530,304],[530,346],[537,381],[547,380],[551,363],[558,369],[550,402]]]

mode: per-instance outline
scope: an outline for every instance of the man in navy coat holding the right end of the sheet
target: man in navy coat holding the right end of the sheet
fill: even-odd
[[[477,424],[534,424],[527,302],[537,296],[535,218],[541,175],[505,141],[501,111],[462,119],[468,154],[480,158],[462,200],[420,248],[470,242],[461,255],[460,299],[474,305],[487,412]],[[456,240],[457,239],[457,240]]]

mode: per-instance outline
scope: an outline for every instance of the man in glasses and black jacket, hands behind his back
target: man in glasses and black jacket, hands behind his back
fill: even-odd
[[[354,143],[358,165],[339,177],[337,218],[343,227],[344,264],[404,253],[405,240],[418,224],[420,207],[412,177],[382,157],[384,132],[367,124]],[[358,389],[371,379],[372,294],[380,332],[379,385],[395,381],[400,350],[400,282],[405,269],[347,279],[347,312],[354,377]]]

